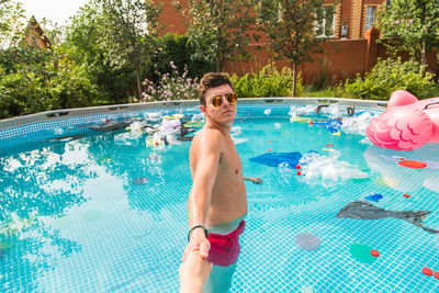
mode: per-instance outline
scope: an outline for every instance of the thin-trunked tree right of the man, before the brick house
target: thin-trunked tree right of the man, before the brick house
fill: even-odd
[[[296,94],[297,66],[313,61],[322,53],[322,43],[333,35],[334,5],[324,0],[263,0],[256,5],[258,27],[271,41],[279,59],[293,66],[293,97]],[[316,25],[317,24],[317,25]]]

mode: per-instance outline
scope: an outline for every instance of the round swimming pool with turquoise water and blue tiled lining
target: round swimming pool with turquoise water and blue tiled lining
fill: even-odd
[[[319,125],[331,113],[316,114],[315,104],[309,110],[267,101],[239,104],[234,124],[244,174],[263,184],[246,183],[247,226],[230,291],[437,291],[439,280],[423,273],[439,271],[437,234],[401,218],[336,215],[364,201],[386,211],[431,211],[424,222],[439,228],[439,169],[398,165],[438,162],[439,144],[382,149],[356,127]],[[346,108],[339,109],[344,115]],[[154,113],[192,117],[199,110],[119,110],[75,117],[56,112],[50,122],[0,131],[1,291],[178,290],[192,183],[190,142],[164,145],[146,134],[90,127]],[[356,108],[361,111],[380,112]],[[296,169],[282,164],[280,153],[317,155]],[[261,155],[270,159],[255,161]]]

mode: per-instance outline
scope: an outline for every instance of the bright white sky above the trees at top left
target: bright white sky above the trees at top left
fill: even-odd
[[[43,18],[63,25],[77,13],[89,0],[16,0],[25,10],[26,18],[35,16],[37,22]]]

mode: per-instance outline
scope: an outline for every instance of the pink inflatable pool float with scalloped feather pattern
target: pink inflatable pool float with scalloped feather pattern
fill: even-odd
[[[365,134],[373,144],[396,150],[439,143],[439,98],[419,101],[408,91],[397,90],[387,110],[371,121]]]

